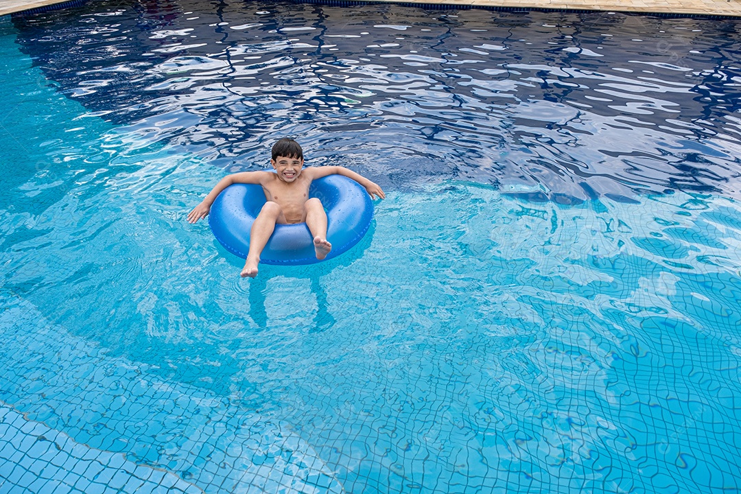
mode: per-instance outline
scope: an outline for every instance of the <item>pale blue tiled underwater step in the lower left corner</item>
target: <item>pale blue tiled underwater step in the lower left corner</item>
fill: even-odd
[[[146,377],[16,296],[0,307],[0,494],[344,492],[287,424]]]

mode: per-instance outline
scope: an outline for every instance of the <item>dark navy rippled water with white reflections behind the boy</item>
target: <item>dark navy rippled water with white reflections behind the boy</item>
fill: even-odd
[[[739,196],[737,21],[194,1],[14,21],[67,96],[229,170],[290,134],[388,187]]]

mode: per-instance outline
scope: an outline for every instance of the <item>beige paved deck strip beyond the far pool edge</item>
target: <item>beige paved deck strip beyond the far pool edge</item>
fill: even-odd
[[[739,16],[741,0],[372,0],[404,4],[447,4],[483,8],[603,10],[608,12]],[[68,0],[0,0],[0,16],[70,3]],[[70,3],[71,4],[71,3]]]

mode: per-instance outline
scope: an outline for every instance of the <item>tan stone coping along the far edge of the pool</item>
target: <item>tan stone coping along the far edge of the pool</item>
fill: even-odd
[[[89,0],[0,0],[0,16],[33,15],[47,10],[76,7]],[[356,7],[365,4],[401,4],[429,10],[485,9],[503,12],[605,12],[682,18],[741,17],[739,0],[295,0],[299,3]]]

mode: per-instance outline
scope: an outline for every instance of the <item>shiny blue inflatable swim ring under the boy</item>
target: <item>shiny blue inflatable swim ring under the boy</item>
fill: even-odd
[[[368,231],[373,202],[368,192],[351,178],[330,175],[311,183],[309,197],[322,201],[327,210],[327,240],[332,250],[327,258],[344,253]],[[213,236],[230,253],[247,258],[250,228],[265,204],[262,186],[232,184],[211,204],[208,225]],[[318,262],[306,223],[276,224],[260,262],[265,264],[312,264]]]

